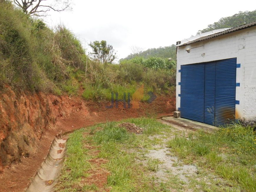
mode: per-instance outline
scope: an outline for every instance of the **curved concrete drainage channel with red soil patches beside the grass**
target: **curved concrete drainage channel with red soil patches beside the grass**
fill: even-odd
[[[63,138],[61,132],[52,141],[50,151],[30,183],[26,192],[50,192],[59,177],[66,153],[67,138]]]

